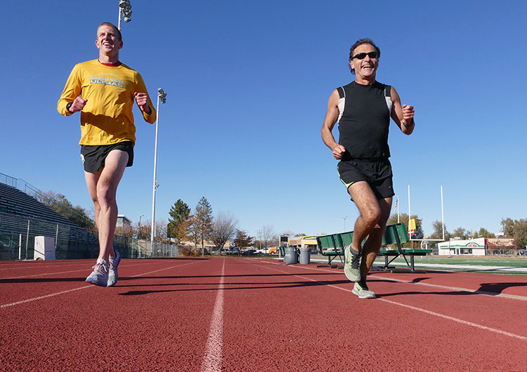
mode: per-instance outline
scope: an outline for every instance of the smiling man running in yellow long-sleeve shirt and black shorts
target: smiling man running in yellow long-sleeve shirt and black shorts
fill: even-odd
[[[117,222],[117,185],[124,168],[134,162],[134,100],[143,119],[153,124],[156,112],[141,75],[119,62],[122,35],[110,22],[97,29],[98,60],[73,68],[57,109],[70,116],[81,112],[81,159],[99,234],[99,256],[86,281],[98,286],[117,283],[121,259],[112,246]]]

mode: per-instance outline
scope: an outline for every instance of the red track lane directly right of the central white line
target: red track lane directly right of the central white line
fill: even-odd
[[[256,284],[226,292],[226,312],[239,309],[235,319],[226,319],[229,371],[520,371],[526,365],[518,353],[524,340],[403,307],[393,298],[359,300],[341,271],[254,265],[268,272],[266,286],[275,288],[263,291]],[[385,286],[395,291],[401,284]]]

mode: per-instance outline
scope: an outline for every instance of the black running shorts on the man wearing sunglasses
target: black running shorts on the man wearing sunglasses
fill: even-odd
[[[365,181],[377,199],[393,197],[391,164],[388,158],[341,160],[337,165],[339,178],[346,191],[355,182]]]

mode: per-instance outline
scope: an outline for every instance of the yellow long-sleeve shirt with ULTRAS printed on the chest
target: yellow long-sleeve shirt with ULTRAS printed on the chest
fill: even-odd
[[[60,114],[70,116],[72,113],[66,109],[68,102],[79,95],[87,100],[81,112],[79,145],[111,145],[125,140],[135,144],[134,92],[148,94],[141,74],[124,64],[107,66],[90,60],[73,67],[57,109]],[[148,106],[152,112],[143,112],[143,118],[153,124],[156,112],[150,96]]]

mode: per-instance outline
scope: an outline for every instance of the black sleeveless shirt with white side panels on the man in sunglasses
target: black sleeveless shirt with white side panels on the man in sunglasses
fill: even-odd
[[[346,148],[343,160],[390,157],[388,133],[391,86],[375,81],[352,81],[339,92],[339,144]]]

